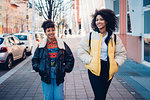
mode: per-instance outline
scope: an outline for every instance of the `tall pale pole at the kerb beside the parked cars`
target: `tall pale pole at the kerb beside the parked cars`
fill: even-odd
[[[35,35],[35,30],[34,30],[34,12],[35,12],[35,5],[34,5],[34,0],[32,0],[32,56],[34,54],[35,51],[35,39],[34,39],[34,35]]]

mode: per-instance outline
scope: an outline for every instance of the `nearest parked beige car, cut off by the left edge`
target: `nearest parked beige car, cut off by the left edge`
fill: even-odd
[[[0,35],[0,67],[12,68],[13,61],[26,58],[26,46],[13,35]]]

